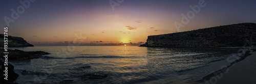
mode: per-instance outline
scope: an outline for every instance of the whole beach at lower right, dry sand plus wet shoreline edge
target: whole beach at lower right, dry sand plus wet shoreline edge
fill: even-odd
[[[252,83],[256,82],[256,49],[249,49],[240,58],[220,70],[214,71],[195,83]],[[241,62],[240,62],[241,61]],[[246,79],[246,80],[242,80]],[[250,79],[250,80],[248,80]]]

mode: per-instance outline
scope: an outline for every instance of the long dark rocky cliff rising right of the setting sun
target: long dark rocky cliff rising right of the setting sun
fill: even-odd
[[[140,46],[241,47],[246,41],[248,43],[255,40],[256,23],[239,23],[148,36],[146,43]]]

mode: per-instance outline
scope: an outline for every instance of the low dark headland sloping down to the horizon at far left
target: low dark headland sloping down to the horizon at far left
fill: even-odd
[[[4,47],[4,34],[0,34],[0,46]],[[21,37],[8,36],[8,47],[34,46]]]

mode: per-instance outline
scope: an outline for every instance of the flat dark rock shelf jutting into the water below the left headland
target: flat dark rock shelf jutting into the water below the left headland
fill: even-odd
[[[4,49],[0,49],[0,55],[4,55]],[[41,57],[42,55],[45,54],[50,54],[48,52],[44,51],[22,51],[22,50],[11,50],[8,49],[8,60],[13,60],[13,61],[20,61],[20,60],[29,60],[29,59],[36,59]],[[4,59],[4,57],[1,57]]]

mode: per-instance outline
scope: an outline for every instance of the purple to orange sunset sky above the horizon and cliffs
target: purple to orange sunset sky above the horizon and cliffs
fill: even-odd
[[[253,0],[0,2],[0,26],[8,26],[8,35],[22,37],[33,45],[141,44],[151,35],[234,23],[256,23],[256,1]],[[4,29],[0,31],[4,33]]]

